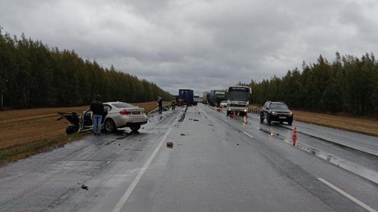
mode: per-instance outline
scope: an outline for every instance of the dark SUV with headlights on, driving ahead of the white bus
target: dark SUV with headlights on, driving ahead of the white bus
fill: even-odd
[[[279,121],[280,123],[287,122],[289,125],[293,123],[293,112],[283,101],[267,101],[260,112],[260,122],[270,124],[272,121]]]

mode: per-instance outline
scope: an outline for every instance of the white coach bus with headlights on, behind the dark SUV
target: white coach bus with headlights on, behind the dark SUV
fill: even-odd
[[[226,92],[228,92],[227,115],[232,113],[246,115],[252,89],[246,86],[229,86]]]

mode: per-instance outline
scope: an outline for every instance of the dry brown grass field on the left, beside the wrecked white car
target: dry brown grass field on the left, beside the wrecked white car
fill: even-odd
[[[156,108],[155,101],[133,105],[144,108],[146,112]],[[17,160],[81,138],[82,135],[65,135],[67,121],[56,121],[59,117],[57,112],[81,114],[88,107],[0,111],[0,161]]]

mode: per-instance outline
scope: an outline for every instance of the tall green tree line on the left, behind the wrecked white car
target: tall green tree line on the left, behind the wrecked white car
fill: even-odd
[[[96,94],[103,101],[128,103],[170,100],[155,83],[116,70],[75,51],[49,48],[40,40],[20,38],[0,28],[0,109],[89,104]]]

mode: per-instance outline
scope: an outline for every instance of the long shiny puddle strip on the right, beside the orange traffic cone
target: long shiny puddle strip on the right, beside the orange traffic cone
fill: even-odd
[[[374,183],[378,183],[378,172],[373,170],[373,169],[369,169],[367,167],[360,166],[356,163],[353,163],[352,161],[345,160],[344,158],[336,157],[332,154],[328,154],[327,152],[319,151],[318,149],[315,149],[311,146],[307,146],[306,144],[302,144],[300,142],[293,143],[293,141],[288,140],[287,138],[283,137],[282,135],[274,134],[274,132],[271,132],[268,129],[264,129],[264,128],[260,127],[260,130],[270,134],[270,136],[277,136],[278,138],[280,138],[280,140],[284,141],[285,143],[290,144],[293,147],[297,147],[298,149],[301,149],[305,152],[308,152],[312,155],[315,155],[316,157],[319,157],[319,158],[322,158],[323,160],[329,161],[330,163],[333,163],[338,167],[342,167],[343,169],[351,171],[356,175],[364,177],[364,178],[366,178],[370,181],[373,181]]]

